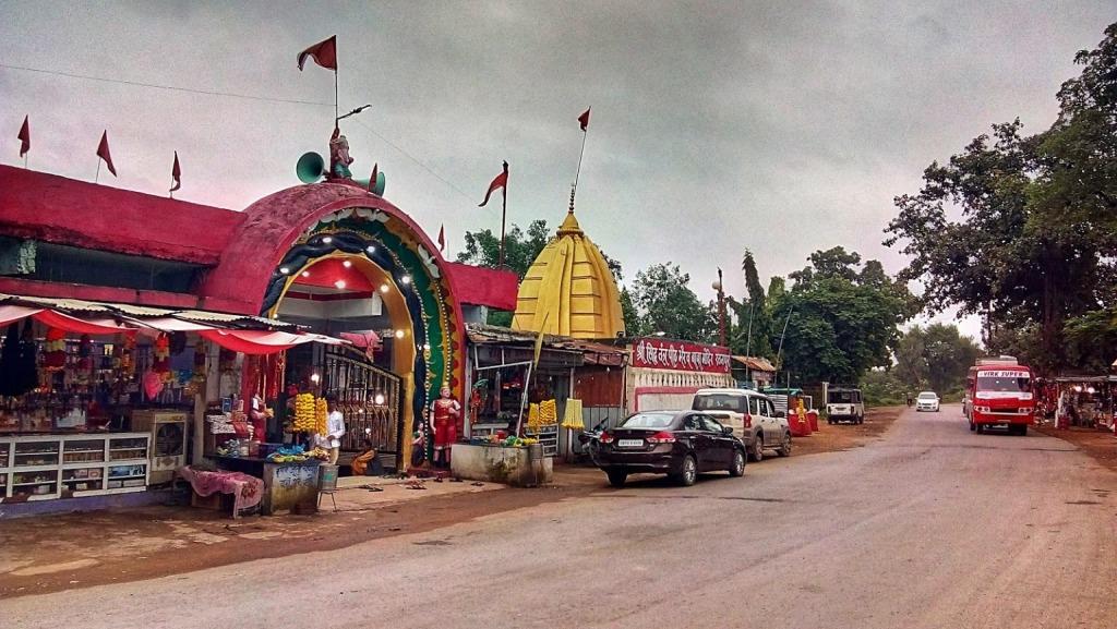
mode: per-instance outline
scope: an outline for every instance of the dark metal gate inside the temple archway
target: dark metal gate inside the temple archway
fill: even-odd
[[[342,451],[364,450],[365,439],[385,468],[399,469],[403,449],[403,379],[350,347],[326,347],[323,392],[337,395],[345,417]]]

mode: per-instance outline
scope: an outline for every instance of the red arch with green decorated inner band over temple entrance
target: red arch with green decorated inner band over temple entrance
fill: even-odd
[[[430,238],[403,211],[347,183],[289,188],[252,203],[202,296],[236,296],[246,309],[273,312],[294,277],[331,257],[363,258],[390,276],[407,307],[414,355],[404,406],[410,435],[430,400],[465,387],[465,325],[454,276]],[[403,440],[403,461],[410,460]]]

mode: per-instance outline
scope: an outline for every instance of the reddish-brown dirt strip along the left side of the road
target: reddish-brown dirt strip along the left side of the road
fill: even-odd
[[[819,432],[794,440],[792,456],[863,446],[879,438],[900,410],[870,409],[859,426],[823,423]],[[0,521],[0,599],[336,550],[607,487],[594,468],[560,466],[555,476],[554,486],[540,489],[442,495],[432,487],[431,495],[418,499],[318,515],[230,520],[189,507],[147,507]]]

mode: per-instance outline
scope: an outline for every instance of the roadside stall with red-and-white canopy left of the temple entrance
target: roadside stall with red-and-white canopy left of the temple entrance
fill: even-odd
[[[204,435],[258,454],[254,421],[266,413],[241,400],[267,382],[246,387],[256,374],[245,356],[341,343],[261,317],[15,295],[0,295],[0,331],[6,504],[144,492],[201,460]]]

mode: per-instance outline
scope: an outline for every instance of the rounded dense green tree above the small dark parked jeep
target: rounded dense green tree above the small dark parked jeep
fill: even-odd
[[[898,325],[915,315],[907,287],[884,275],[879,263],[858,269],[856,252],[842,247],[815,251],[811,264],[791,274],[790,290],[773,280],[772,342],[786,323],[782,369],[802,382],[858,382],[872,366],[891,364]]]

